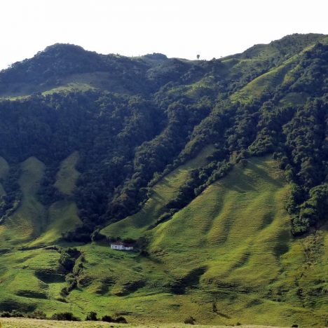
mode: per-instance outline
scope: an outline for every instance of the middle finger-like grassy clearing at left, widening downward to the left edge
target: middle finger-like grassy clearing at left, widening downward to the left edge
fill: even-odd
[[[35,157],[27,158],[21,164],[22,174],[18,183],[22,191],[22,203],[4,224],[0,226],[0,245],[13,247],[36,238],[46,224],[46,212],[39,203],[36,192],[39,189],[45,166]]]

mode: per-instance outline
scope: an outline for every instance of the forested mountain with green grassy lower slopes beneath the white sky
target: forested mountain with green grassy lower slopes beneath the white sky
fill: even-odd
[[[327,324],[327,81],[322,34],[0,71],[0,310]]]

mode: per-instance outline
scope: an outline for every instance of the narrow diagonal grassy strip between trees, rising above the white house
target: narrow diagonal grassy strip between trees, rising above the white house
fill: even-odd
[[[138,238],[144,234],[149,226],[154,224],[158,217],[165,212],[165,205],[175,198],[179,187],[186,182],[190,170],[206,164],[206,157],[214,150],[213,146],[207,146],[200,151],[196,158],[179,166],[169,175],[163,177],[151,191],[151,197],[147,200],[142,210],[121,221],[111,224],[102,230],[102,233],[111,237]]]

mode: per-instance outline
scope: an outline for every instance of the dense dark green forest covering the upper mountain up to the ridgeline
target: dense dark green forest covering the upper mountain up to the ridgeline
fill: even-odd
[[[71,88],[74,81],[88,88]],[[48,167],[39,191],[47,205],[61,197],[60,161],[78,151],[74,197],[83,226],[66,238],[88,241],[97,226],[136,212],[160,177],[214,144],[210,163],[191,171],[168,203],[168,216],[235,163],[272,154],[292,184],[292,232],[305,233],[327,219],[327,82],[328,39],[320,34],[210,61],[50,46],[0,72],[0,156],[12,168],[2,181],[1,221],[19,206],[18,163],[29,156]]]

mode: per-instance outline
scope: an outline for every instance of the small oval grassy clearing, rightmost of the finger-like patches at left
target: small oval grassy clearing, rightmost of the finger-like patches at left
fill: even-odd
[[[74,151],[69,157],[62,161],[60,170],[57,173],[55,186],[65,195],[71,195],[78,179],[79,172],[75,166],[78,162],[78,152]]]

